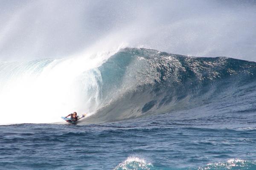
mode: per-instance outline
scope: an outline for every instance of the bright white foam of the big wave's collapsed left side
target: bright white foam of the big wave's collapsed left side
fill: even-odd
[[[0,125],[61,122],[61,116],[73,111],[93,112],[90,105],[97,107],[99,87],[95,74],[87,71],[102,65],[119,48],[107,52],[88,49],[66,59],[49,59],[47,66],[41,66],[45,59],[10,62],[0,70]],[[12,74],[7,75],[9,72]],[[93,92],[88,94],[88,88]]]

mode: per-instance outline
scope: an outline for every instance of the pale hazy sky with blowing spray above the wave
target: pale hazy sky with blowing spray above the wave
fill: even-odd
[[[256,62],[255,0],[0,0],[0,60],[152,48]]]

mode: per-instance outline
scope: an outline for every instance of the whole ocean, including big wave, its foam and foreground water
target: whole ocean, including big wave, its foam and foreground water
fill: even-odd
[[[256,170],[256,62],[124,48],[0,79],[1,170]]]

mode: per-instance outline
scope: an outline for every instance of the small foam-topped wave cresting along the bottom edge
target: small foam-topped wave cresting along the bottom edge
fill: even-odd
[[[159,167],[146,163],[144,159],[131,156],[120,163],[114,170],[254,170],[255,168],[256,161],[242,159],[229,159],[226,162],[211,163],[198,168]]]

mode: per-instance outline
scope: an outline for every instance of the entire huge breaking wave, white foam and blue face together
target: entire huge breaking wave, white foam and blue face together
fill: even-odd
[[[90,57],[2,61],[0,78],[2,114],[13,115],[0,124],[58,122],[69,112],[90,111],[87,124],[225,101],[239,105],[242,98],[245,107],[233,111],[247,111],[255,100],[256,63],[124,48]]]

